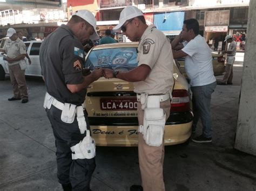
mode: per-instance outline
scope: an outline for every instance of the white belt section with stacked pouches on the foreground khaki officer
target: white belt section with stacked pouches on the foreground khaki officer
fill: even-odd
[[[169,94],[147,96],[143,125],[139,126],[147,145],[160,146],[163,143],[166,114],[160,108],[160,102],[168,98]]]

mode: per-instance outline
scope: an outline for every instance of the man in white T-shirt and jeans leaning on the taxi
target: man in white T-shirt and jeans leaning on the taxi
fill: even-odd
[[[183,43],[181,43],[183,41]],[[185,57],[185,70],[190,78],[193,93],[194,120],[192,132],[196,132],[199,117],[203,124],[202,135],[193,138],[196,143],[212,142],[211,95],[216,87],[213,74],[211,49],[199,34],[199,23],[196,19],[184,21],[179,36],[172,41],[173,58]]]

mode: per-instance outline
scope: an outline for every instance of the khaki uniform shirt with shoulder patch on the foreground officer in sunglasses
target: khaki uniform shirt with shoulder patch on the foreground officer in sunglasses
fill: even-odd
[[[138,46],[138,66],[151,68],[145,81],[134,82],[134,92],[142,94],[166,94],[173,86],[172,47],[156,26],[150,25],[143,33]]]

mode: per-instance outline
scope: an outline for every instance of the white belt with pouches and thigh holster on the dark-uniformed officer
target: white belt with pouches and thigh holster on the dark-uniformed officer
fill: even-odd
[[[62,110],[61,119],[64,123],[73,123],[75,116],[77,115],[80,133],[84,134],[86,131],[86,136],[83,138],[83,140],[71,147],[72,159],[91,159],[95,157],[95,140],[90,136],[90,131],[87,129],[83,106],[77,106],[71,103],[62,103],[46,92],[44,97],[44,108],[50,109],[51,105],[55,106],[59,110]]]

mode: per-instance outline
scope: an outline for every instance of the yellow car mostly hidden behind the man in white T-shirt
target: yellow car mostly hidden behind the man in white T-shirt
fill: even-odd
[[[185,58],[179,58],[177,59],[180,65],[181,73],[186,75],[185,71]],[[223,75],[225,73],[225,58],[224,54],[218,54],[218,52],[212,52],[212,66],[213,66],[213,73],[214,76]]]

